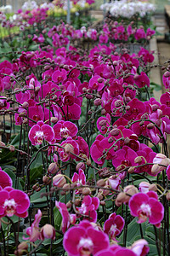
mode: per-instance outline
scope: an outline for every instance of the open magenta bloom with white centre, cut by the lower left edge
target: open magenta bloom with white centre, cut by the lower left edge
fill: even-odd
[[[23,191],[11,187],[5,187],[0,191],[0,218],[13,215],[26,218],[29,207],[30,199]]]

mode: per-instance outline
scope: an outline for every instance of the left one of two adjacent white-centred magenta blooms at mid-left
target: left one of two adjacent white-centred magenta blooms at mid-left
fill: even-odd
[[[32,145],[42,144],[43,139],[51,143],[54,139],[54,130],[50,125],[44,125],[42,121],[38,121],[37,125],[31,127],[28,137]]]

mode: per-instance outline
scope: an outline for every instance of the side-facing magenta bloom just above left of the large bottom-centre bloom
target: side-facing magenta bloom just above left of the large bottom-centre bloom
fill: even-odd
[[[55,207],[59,209],[59,212],[62,216],[61,230],[63,233],[70,227],[71,224],[75,224],[77,221],[76,214],[70,214],[67,210],[67,207],[64,203],[60,201],[55,201]]]

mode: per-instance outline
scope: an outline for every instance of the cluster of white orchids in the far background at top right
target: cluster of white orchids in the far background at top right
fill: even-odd
[[[111,3],[104,3],[100,6],[100,9],[105,9],[113,17],[132,18],[133,15],[139,15],[144,17],[147,14],[153,13],[156,10],[156,6],[153,3],[147,3],[143,1],[112,1]]]

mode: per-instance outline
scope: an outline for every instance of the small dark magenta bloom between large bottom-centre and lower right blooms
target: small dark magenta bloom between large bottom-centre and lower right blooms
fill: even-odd
[[[116,212],[114,212],[105,221],[104,232],[111,236],[111,240],[116,240],[116,236],[122,232],[124,224],[124,218],[122,218],[120,215],[116,215]]]

